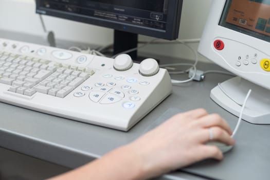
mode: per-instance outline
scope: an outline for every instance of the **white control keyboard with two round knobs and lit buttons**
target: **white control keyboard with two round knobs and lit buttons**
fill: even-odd
[[[128,131],[171,94],[166,69],[0,39],[0,101]]]

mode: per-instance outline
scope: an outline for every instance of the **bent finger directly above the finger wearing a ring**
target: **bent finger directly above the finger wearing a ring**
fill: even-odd
[[[227,121],[225,121],[218,114],[210,114],[208,116],[204,116],[200,118],[198,121],[199,125],[203,128],[211,128],[211,127],[220,127],[227,131],[230,135],[232,134],[231,129]]]

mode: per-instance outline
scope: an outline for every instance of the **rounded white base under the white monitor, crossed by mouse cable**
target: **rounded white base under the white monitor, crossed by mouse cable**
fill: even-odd
[[[239,117],[248,90],[243,119],[254,124],[270,124],[270,91],[240,77],[229,79],[212,89],[210,97],[228,112]]]

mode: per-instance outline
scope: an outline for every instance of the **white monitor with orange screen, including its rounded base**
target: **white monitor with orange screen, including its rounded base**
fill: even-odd
[[[270,1],[212,1],[198,51],[238,76],[213,88],[210,97],[239,116],[252,89],[243,119],[269,124]]]

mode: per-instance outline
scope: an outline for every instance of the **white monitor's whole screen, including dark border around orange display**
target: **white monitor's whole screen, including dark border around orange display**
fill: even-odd
[[[228,0],[219,25],[270,42],[270,0]]]

